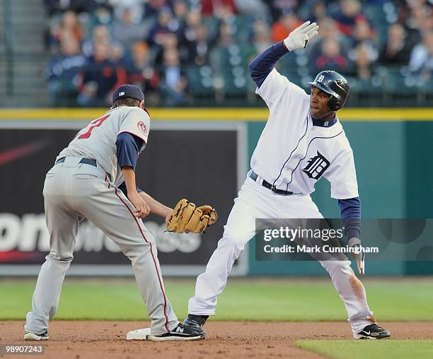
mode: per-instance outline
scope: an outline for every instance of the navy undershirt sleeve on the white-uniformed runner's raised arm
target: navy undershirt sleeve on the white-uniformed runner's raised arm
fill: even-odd
[[[284,42],[278,42],[268,49],[265,49],[264,52],[251,61],[249,66],[250,74],[251,78],[253,78],[254,82],[257,84],[257,87],[260,88],[260,86],[262,86],[263,81],[265,81],[270,71],[274,69],[277,61],[288,53],[289,50],[286,45],[284,45]]]

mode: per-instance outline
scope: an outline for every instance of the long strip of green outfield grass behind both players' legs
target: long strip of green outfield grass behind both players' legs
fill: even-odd
[[[432,321],[432,280],[365,281],[379,321]],[[0,281],[0,320],[24,319],[35,281]],[[187,314],[195,279],[168,280],[168,298],[178,317]],[[347,314],[328,280],[231,279],[219,297],[215,320],[341,321]],[[143,320],[146,310],[134,279],[64,283],[56,319]]]

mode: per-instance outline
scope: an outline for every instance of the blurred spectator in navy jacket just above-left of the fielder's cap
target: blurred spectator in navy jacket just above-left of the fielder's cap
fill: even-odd
[[[82,71],[83,79],[78,98],[81,106],[110,104],[110,93],[117,83],[117,71],[109,57],[108,43],[96,43],[93,56],[87,59]]]

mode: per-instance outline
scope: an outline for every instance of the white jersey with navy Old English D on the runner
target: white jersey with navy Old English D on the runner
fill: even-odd
[[[331,197],[357,197],[352,148],[338,119],[333,126],[313,126],[309,95],[276,69],[256,93],[270,116],[251,158],[253,171],[295,194],[311,194],[323,176],[331,184]]]

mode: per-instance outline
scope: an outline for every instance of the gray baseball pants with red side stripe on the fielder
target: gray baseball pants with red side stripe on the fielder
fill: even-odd
[[[54,317],[83,218],[115,241],[131,260],[151,318],[151,334],[174,329],[179,322],[166,297],[154,236],[134,216],[134,206],[110,183],[105,172],[100,167],[79,163],[81,159],[67,157],[64,163],[54,165],[45,178],[43,194],[51,250],[37,277],[25,331],[41,334]]]

